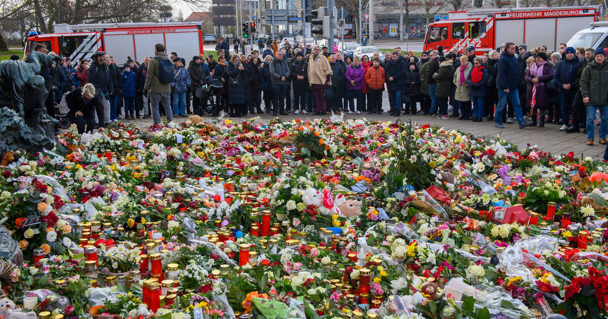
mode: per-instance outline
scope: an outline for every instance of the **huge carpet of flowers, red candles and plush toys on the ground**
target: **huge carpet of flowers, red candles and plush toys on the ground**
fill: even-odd
[[[0,315],[608,315],[603,163],[416,123],[258,120],[16,151]]]

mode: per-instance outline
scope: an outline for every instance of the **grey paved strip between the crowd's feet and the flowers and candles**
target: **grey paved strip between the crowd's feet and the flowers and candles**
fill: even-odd
[[[386,99],[385,99],[386,100]],[[387,101],[388,102],[388,101]],[[388,103],[384,106],[384,109],[388,109]],[[249,118],[258,116],[258,114],[251,115],[248,114],[246,117],[241,117],[239,120],[249,120]],[[262,114],[260,115],[263,120],[271,120],[274,118],[272,114]],[[326,115],[326,118],[329,118],[330,115]],[[345,114],[345,118],[367,118],[368,120],[375,121],[395,121],[395,117],[389,115],[386,111],[382,115],[373,114]],[[204,118],[211,119],[211,117],[205,116]],[[320,116],[316,115],[294,115],[293,112],[290,112],[287,116],[282,116],[281,118],[285,120],[293,120],[294,118],[301,118],[302,120],[313,120],[314,118],[320,118]],[[528,127],[525,129],[519,129],[517,123],[515,124],[504,124],[504,129],[498,129],[494,127],[494,122],[488,122],[484,118],[484,122],[471,122],[471,121],[463,121],[458,120],[455,117],[451,117],[447,120],[440,120],[436,117],[424,116],[424,115],[401,115],[402,120],[412,120],[412,122],[418,122],[420,124],[430,124],[430,125],[438,125],[443,126],[448,129],[456,129],[457,131],[462,131],[466,133],[470,133],[475,135],[476,137],[496,137],[497,134],[500,134],[502,139],[508,140],[511,143],[519,146],[520,148],[530,145],[537,145],[538,148],[542,151],[549,152],[551,154],[565,154],[570,151],[573,151],[577,157],[580,156],[590,156],[594,159],[601,159],[604,155],[604,149],[606,149],[606,145],[600,145],[598,143],[599,138],[597,137],[599,126],[595,127],[595,145],[587,146],[585,142],[587,141],[587,134],[582,133],[572,133],[567,134],[565,132],[560,132],[559,128],[561,125],[547,123],[544,128],[538,127]],[[178,117],[174,120],[179,122],[185,122],[188,118]],[[153,120],[151,118],[139,119],[134,121],[121,120],[121,123],[130,124],[136,123],[139,128],[147,128],[153,124]]]

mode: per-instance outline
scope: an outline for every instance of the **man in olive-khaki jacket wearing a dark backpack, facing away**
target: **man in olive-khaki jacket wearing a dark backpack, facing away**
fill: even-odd
[[[167,58],[165,45],[157,43],[154,45],[154,58],[148,64],[148,74],[146,82],[143,84],[143,94],[147,95],[150,91],[150,108],[154,124],[161,123],[159,103],[165,108],[167,120],[173,120],[173,110],[171,109],[171,82],[175,78],[173,62]]]

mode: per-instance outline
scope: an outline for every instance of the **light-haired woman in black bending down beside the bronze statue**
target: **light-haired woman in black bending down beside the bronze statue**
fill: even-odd
[[[95,107],[101,107],[101,101],[95,96],[95,86],[91,83],[78,87],[66,95],[67,117],[75,123],[78,133],[92,132],[95,129]],[[85,131],[86,124],[86,131]]]

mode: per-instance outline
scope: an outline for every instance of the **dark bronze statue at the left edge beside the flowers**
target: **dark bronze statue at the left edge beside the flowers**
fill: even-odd
[[[50,117],[44,101],[48,91],[40,75],[43,67],[53,67],[60,57],[30,53],[25,61],[0,62],[0,154],[17,149],[38,152],[55,145],[57,120]]]

